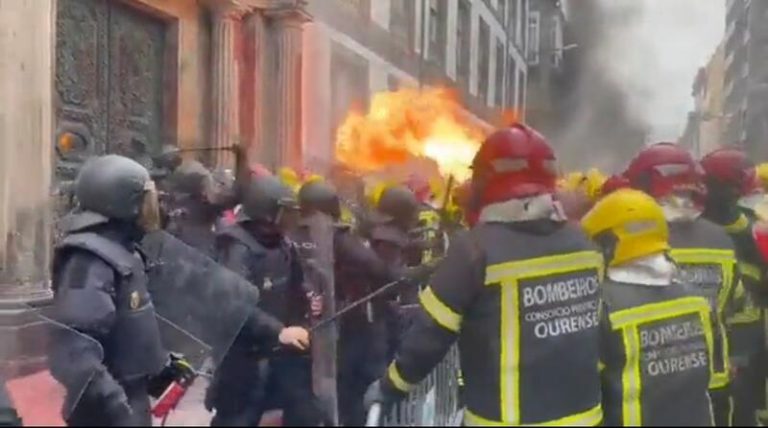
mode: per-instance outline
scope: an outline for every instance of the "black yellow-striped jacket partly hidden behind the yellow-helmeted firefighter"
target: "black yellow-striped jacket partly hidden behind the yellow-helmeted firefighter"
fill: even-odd
[[[712,317],[715,355],[711,388],[730,382],[729,342],[725,328],[729,300],[737,283],[733,241],[715,223],[699,218],[693,222],[669,223],[670,255],[680,267],[680,278],[706,297],[717,316]]]

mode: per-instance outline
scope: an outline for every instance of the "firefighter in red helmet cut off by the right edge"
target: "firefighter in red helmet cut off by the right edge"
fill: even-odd
[[[764,312],[768,290],[766,265],[752,237],[758,221],[755,202],[764,200],[755,165],[736,149],[719,149],[704,156],[707,203],[704,216],[722,225],[736,246],[742,281],[733,292],[733,313],[726,319],[734,374],[734,424],[755,426],[765,403],[766,350]]]

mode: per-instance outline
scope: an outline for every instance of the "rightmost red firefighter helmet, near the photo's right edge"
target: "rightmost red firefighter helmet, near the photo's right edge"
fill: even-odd
[[[761,188],[755,164],[741,150],[717,149],[701,159],[701,167],[707,180],[715,180],[737,189],[741,196],[750,195]]]

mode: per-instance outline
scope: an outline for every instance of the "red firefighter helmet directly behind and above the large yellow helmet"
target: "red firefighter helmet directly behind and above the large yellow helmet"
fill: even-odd
[[[623,175],[632,187],[657,199],[679,191],[691,191],[697,198],[705,194],[701,166],[687,150],[674,143],[644,148]]]

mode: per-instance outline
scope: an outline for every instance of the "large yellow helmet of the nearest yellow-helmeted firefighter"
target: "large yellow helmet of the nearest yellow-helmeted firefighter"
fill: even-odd
[[[649,195],[620,189],[604,197],[581,220],[590,238],[613,246],[609,265],[618,265],[669,249],[664,212]]]

